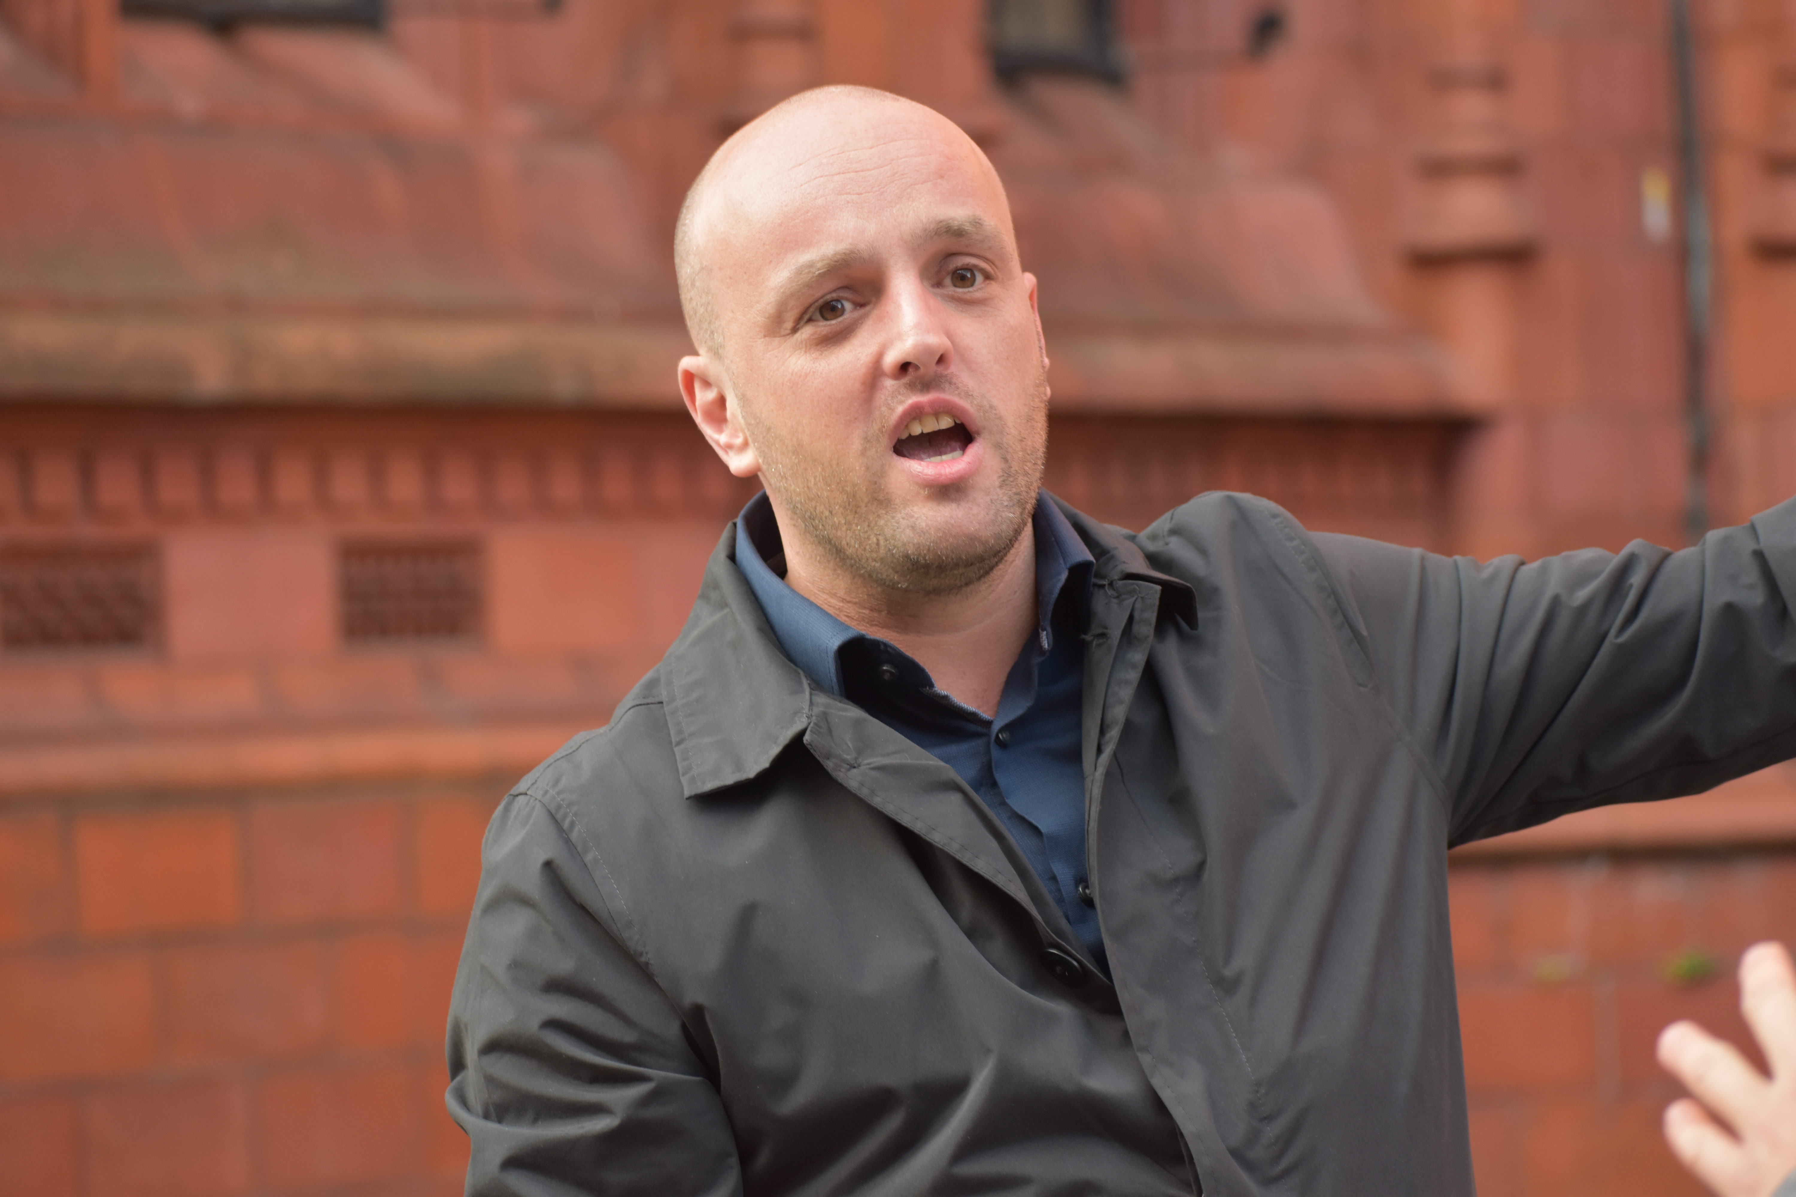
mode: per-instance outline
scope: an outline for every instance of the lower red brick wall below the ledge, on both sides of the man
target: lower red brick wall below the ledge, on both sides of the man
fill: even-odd
[[[0,809],[0,1161],[31,1197],[454,1193],[444,1018],[508,779]],[[1485,1197],[1695,1193],[1652,1041],[1749,1043],[1796,851],[1455,860]]]

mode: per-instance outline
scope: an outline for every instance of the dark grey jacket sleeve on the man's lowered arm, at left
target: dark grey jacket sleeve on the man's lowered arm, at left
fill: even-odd
[[[551,804],[510,795],[449,1003],[469,1197],[742,1192],[717,1089],[629,942]]]

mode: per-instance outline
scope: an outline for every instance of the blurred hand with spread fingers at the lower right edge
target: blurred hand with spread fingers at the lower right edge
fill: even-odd
[[[1660,1064],[1697,1098],[1665,1109],[1665,1140],[1717,1197],[1771,1197],[1796,1172],[1796,969],[1782,944],[1740,957],[1740,1012],[1769,1079],[1695,1023],[1660,1032]]]

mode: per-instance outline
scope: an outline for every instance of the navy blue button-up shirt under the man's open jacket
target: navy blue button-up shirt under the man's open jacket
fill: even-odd
[[[1101,962],[1097,912],[1079,901],[1079,718],[1092,555],[1047,495],[1034,504],[1033,526],[1038,625],[1004,678],[997,718],[936,689],[929,671],[898,646],[857,632],[788,587],[779,526],[765,494],[754,495],[738,517],[736,567],[779,646],[812,682],[936,754],[972,786]]]

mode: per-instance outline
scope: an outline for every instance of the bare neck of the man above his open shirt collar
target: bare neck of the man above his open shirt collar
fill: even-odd
[[[955,700],[997,714],[1017,653],[1034,633],[1034,535],[1024,529],[999,565],[950,594],[873,585],[787,538],[787,585],[842,623],[891,641]]]

